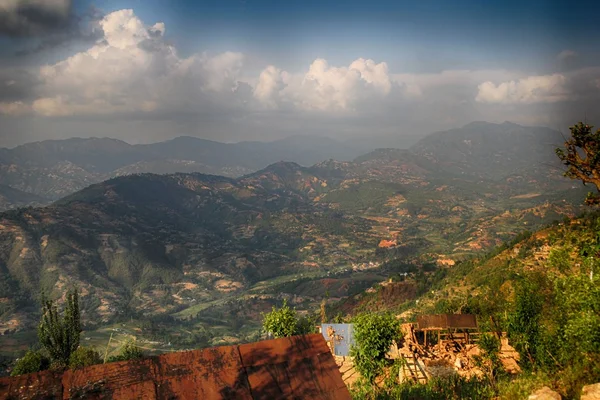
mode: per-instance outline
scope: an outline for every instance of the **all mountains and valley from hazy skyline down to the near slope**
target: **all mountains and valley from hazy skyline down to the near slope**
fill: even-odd
[[[48,207],[0,214],[0,328],[31,327],[42,290],[59,297],[75,284],[93,326],[167,316],[210,326],[217,336],[236,335],[242,326],[247,333],[257,313],[282,295],[310,309],[325,295],[358,293],[397,267],[361,272],[372,268],[369,262],[418,266],[460,258],[573,215],[582,191],[548,167],[557,165],[550,144],[560,140],[544,128],[476,123],[352,162],[280,161],[238,178],[139,174],[79,191],[141,163],[192,171],[210,165],[235,175],[267,155],[280,157],[272,154],[276,146],[305,162],[328,147],[310,153],[314,148],[293,141],[224,145],[191,138],[22,146],[4,153],[14,163],[3,179],[18,182],[17,171],[46,194],[74,193]],[[200,151],[198,161],[181,161]],[[62,174],[57,165],[66,168]],[[384,240],[391,249],[378,248]]]

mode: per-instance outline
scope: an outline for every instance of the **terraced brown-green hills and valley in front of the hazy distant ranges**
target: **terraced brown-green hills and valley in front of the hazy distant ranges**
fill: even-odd
[[[0,329],[31,327],[41,291],[57,297],[76,284],[97,327],[150,315],[255,332],[260,310],[281,296],[310,309],[405,264],[453,262],[577,210],[549,201],[571,193],[568,182],[531,196],[503,182],[430,178],[416,161],[380,150],[238,179],[125,176],[0,214]]]

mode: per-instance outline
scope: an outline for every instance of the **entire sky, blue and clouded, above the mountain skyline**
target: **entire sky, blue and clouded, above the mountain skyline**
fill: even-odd
[[[0,147],[600,125],[597,2],[0,0]]]

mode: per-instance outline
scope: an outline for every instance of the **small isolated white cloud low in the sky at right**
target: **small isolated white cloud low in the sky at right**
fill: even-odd
[[[502,82],[492,81],[478,86],[476,101],[492,104],[555,103],[573,98],[567,87],[567,78],[562,74],[529,76]]]

